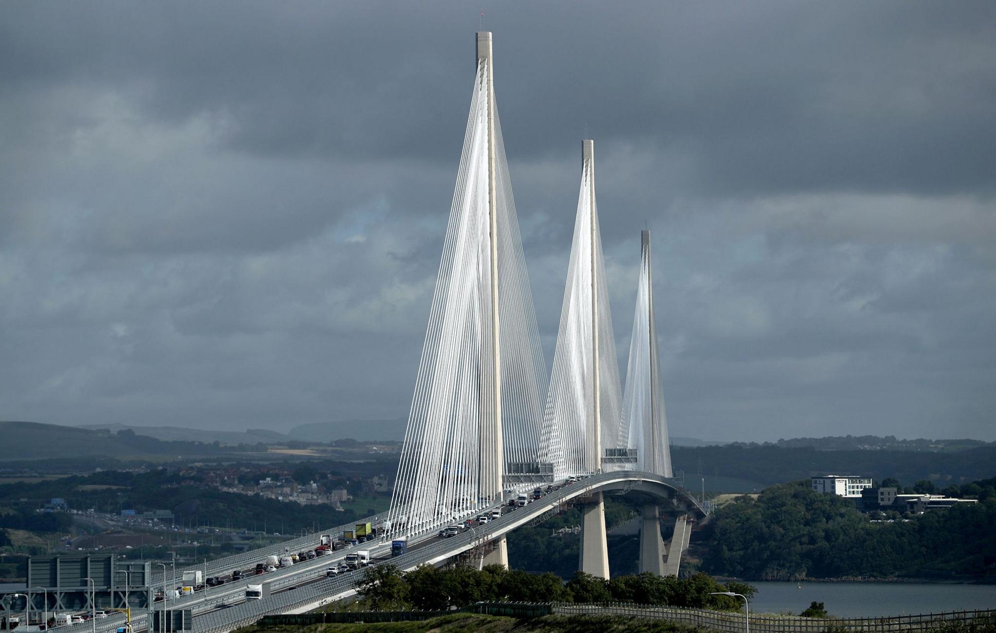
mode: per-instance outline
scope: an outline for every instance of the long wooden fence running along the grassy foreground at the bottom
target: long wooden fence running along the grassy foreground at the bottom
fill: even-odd
[[[573,604],[573,603],[524,603],[478,602],[469,607],[449,611],[345,611],[330,613],[303,613],[300,615],[267,615],[258,624],[262,626],[310,626],[332,623],[376,623],[428,620],[453,613],[484,613],[516,618],[543,617],[550,614],[568,616],[603,615],[609,617],[638,617],[667,620],[698,626],[719,633],[742,633],[746,618],[743,613],[655,607],[635,604]],[[757,615],[751,616],[750,628],[757,633],[837,633],[841,632],[926,632],[936,631],[945,625],[965,624],[965,631],[996,631],[996,611],[953,611],[923,615],[902,615],[881,618],[819,619],[800,616]],[[974,625],[974,626],[971,626]]]

